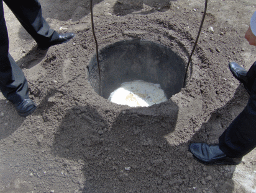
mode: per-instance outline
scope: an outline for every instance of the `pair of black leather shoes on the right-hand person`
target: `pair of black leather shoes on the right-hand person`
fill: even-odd
[[[235,62],[229,63],[229,69],[234,77],[244,84],[244,87],[250,94],[250,90],[252,88],[248,84],[248,71]],[[224,152],[222,152],[218,144],[208,145],[204,143],[193,143],[190,144],[188,150],[193,154],[194,159],[204,165],[237,165],[242,161],[242,158],[228,157]]]

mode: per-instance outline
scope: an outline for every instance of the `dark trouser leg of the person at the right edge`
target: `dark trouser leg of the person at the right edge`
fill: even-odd
[[[255,71],[254,67],[252,69]],[[231,158],[243,157],[256,147],[256,80],[247,106],[219,137],[219,147]]]

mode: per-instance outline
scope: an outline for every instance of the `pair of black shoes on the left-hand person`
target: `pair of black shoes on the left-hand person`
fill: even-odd
[[[50,46],[66,43],[74,36],[75,36],[75,33],[61,33],[58,36],[57,40],[51,41],[50,43],[47,43],[45,45],[39,45],[39,48],[48,49]],[[34,101],[32,101],[30,98],[25,98],[21,102],[14,104],[14,106],[16,107],[18,114],[23,117],[28,116],[29,114],[32,114],[37,108]]]

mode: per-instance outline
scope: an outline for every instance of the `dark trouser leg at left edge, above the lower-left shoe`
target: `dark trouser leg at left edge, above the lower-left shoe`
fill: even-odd
[[[7,100],[19,103],[27,98],[27,80],[23,72],[17,66],[14,59],[8,53],[9,41],[4,20],[2,1],[0,2],[0,90]]]

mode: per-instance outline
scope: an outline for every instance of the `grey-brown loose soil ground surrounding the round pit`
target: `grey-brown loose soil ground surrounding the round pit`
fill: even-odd
[[[208,2],[185,88],[149,108],[116,105],[89,84],[88,0],[40,2],[53,29],[76,36],[40,51],[4,4],[9,51],[38,108],[21,118],[0,96],[0,192],[256,192],[255,150],[237,166],[205,166],[188,152],[190,142],[216,143],[247,104],[227,64],[255,61],[244,38],[255,1]],[[99,48],[150,40],[186,63],[204,1],[98,0],[93,10]]]

